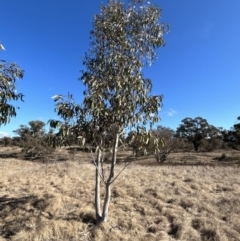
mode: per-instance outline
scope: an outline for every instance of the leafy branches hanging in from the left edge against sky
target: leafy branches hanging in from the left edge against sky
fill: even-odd
[[[0,61],[0,126],[9,123],[16,116],[16,108],[10,102],[20,99],[23,94],[16,91],[16,80],[23,78],[24,71],[15,63]]]

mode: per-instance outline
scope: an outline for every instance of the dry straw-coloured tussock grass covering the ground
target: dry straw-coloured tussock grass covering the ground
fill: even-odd
[[[0,241],[240,240],[239,154],[217,161],[221,154],[132,163],[113,184],[109,221],[98,227],[87,154],[51,164],[1,158]]]

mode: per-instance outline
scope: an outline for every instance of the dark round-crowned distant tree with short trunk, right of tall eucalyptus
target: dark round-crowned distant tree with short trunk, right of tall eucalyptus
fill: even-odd
[[[194,146],[197,152],[202,140],[211,138],[217,135],[218,130],[212,125],[209,125],[206,119],[201,117],[185,118],[182,124],[176,130],[176,137],[186,138]]]

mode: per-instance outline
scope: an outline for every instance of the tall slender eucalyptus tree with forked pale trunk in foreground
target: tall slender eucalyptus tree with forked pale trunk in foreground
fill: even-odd
[[[96,149],[95,211],[96,222],[106,222],[111,184],[123,169],[115,173],[117,151],[127,129],[136,130],[141,143],[147,142],[149,126],[159,121],[162,95],[150,95],[151,80],[142,68],[153,64],[156,49],[164,46],[163,34],[169,29],[159,22],[160,8],[145,0],[109,0],[94,16],[90,32],[90,49],[85,54],[80,80],[86,86],[81,105],[69,94],[67,99],[54,96],[55,110],[63,122],[50,120],[58,127],[58,136],[78,133],[83,142],[89,138]],[[156,146],[158,146],[156,141]],[[110,147],[108,175],[103,170],[106,146]],[[94,153],[93,153],[94,155]],[[100,181],[105,184],[103,207],[100,205]]]

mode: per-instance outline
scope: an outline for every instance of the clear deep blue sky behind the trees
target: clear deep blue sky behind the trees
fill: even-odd
[[[81,102],[78,78],[89,47],[93,15],[102,0],[1,0],[1,59],[17,62],[25,76],[17,82],[25,95],[16,118],[1,133],[30,120],[57,118],[55,94],[72,93]],[[240,1],[155,0],[161,22],[170,25],[166,46],[146,70],[153,93],[163,94],[163,126],[176,129],[185,117],[201,116],[229,129],[240,116]]]

